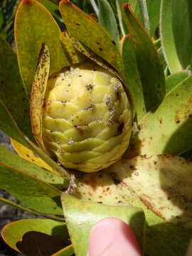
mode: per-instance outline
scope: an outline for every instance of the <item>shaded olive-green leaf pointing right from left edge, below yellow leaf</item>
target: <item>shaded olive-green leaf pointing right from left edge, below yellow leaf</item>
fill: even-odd
[[[0,187],[25,196],[58,196],[60,191],[48,183],[0,161]]]

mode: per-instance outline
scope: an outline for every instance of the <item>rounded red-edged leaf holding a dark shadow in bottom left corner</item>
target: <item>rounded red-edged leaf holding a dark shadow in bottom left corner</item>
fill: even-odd
[[[33,233],[30,233],[31,231]],[[37,245],[40,245],[40,243],[43,242],[46,242],[46,249],[48,248],[48,244],[51,246],[52,242],[54,242],[54,238],[63,240],[68,239],[68,230],[64,223],[56,220],[26,219],[9,223],[3,228],[1,235],[10,247],[19,252],[20,248],[18,249],[17,242],[21,239],[21,242],[27,243],[29,250],[37,250]],[[51,235],[53,235],[53,237],[50,237]],[[28,239],[30,240],[28,241]],[[63,247],[64,246],[65,241],[63,241]],[[41,249],[43,248],[41,247]],[[35,253],[33,255],[39,254]]]

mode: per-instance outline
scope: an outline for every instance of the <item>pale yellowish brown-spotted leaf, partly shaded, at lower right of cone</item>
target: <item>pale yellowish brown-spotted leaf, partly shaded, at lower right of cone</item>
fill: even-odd
[[[114,164],[110,172],[164,220],[192,227],[192,163],[178,156],[137,156]],[[182,223],[182,224],[181,224]]]

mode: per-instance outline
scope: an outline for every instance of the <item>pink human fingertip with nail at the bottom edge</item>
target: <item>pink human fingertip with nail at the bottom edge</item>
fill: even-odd
[[[92,228],[88,256],[142,256],[132,229],[118,218],[104,218]]]

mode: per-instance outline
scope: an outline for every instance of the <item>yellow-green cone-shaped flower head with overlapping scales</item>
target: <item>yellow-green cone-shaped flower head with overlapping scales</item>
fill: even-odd
[[[124,154],[132,117],[122,82],[94,63],[84,63],[48,80],[43,142],[60,164],[99,171]]]

